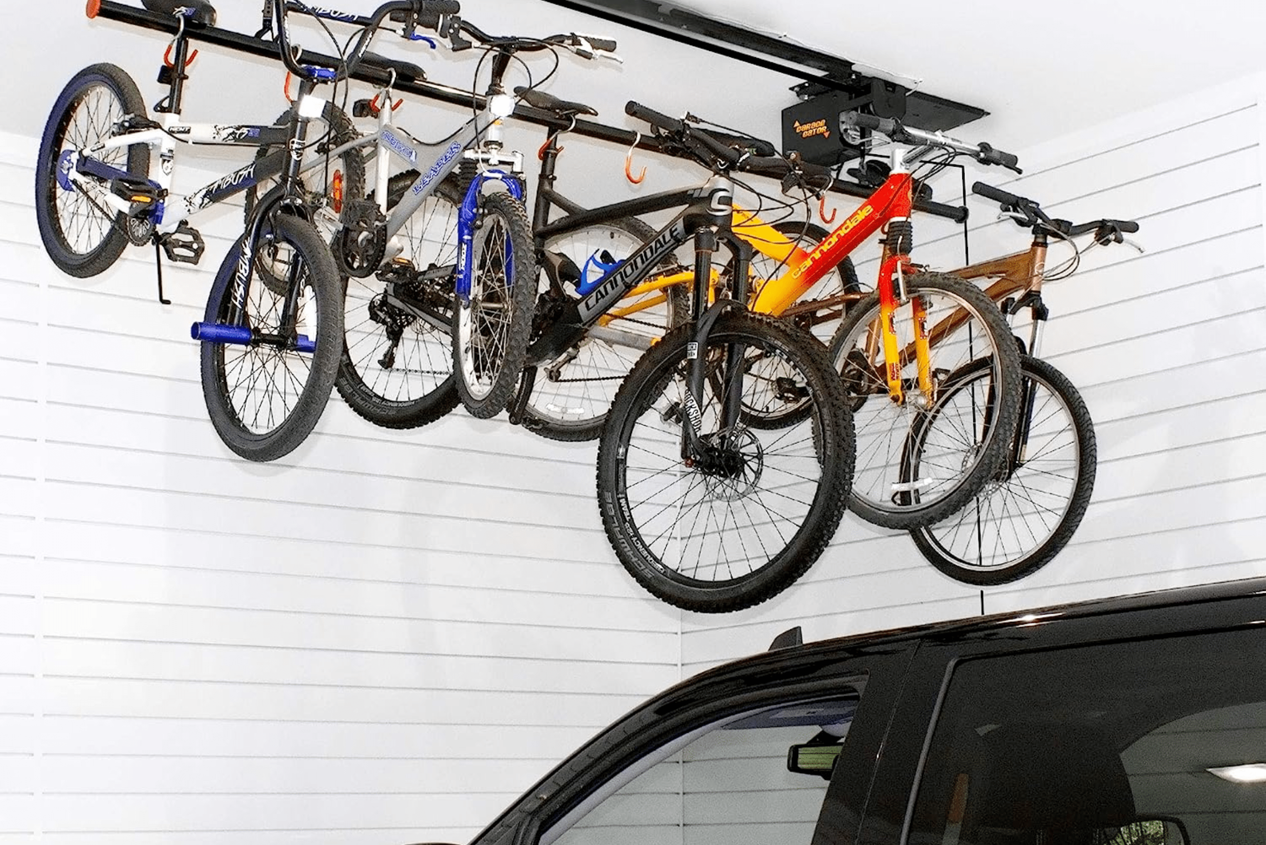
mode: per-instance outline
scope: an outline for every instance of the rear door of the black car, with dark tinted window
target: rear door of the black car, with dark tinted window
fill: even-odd
[[[860,841],[1260,842],[1263,617],[1266,601],[1246,597],[929,640]]]

